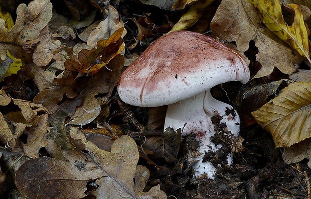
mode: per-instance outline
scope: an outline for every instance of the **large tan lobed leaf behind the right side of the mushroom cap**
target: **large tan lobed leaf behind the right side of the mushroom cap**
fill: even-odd
[[[234,41],[241,55],[249,49],[251,40],[255,42],[258,48],[256,61],[262,65],[262,68],[253,78],[269,75],[274,67],[290,75],[296,70],[295,65],[303,59],[266,36],[264,29],[258,28],[260,19],[247,0],[223,0],[210,27],[222,40]]]

